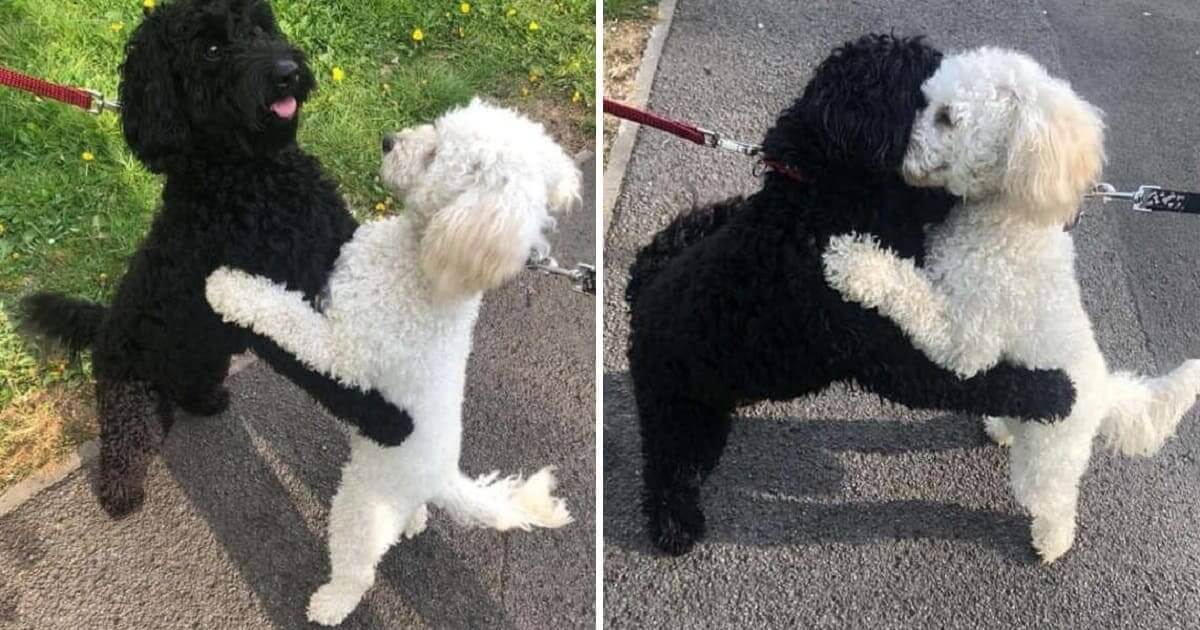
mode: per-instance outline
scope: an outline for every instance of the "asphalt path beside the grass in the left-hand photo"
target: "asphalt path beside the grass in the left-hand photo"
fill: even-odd
[[[590,196],[559,221],[560,260],[595,259],[594,221]],[[594,298],[524,274],[486,296],[467,379],[463,468],[557,464],[576,522],[498,534],[432,510],[341,628],[593,628],[594,329]],[[228,413],[176,422],[136,516],[106,518],[85,467],[0,518],[0,628],[310,626],[346,438],[262,362],[228,384]]]

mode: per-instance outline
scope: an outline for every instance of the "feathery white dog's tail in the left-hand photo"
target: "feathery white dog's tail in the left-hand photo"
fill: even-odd
[[[498,478],[491,473],[479,479],[458,473],[450,487],[433,504],[450,512],[460,523],[475,527],[530,529],[563,527],[572,521],[566,502],[553,497],[557,481],[553,468],[538,470],[529,479]]]

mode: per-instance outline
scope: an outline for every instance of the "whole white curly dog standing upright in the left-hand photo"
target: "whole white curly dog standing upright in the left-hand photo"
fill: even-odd
[[[329,518],[331,576],[308,619],[337,624],[374,582],[401,534],[425,529],[426,503],[499,530],[562,527],[551,468],[473,480],[458,470],[467,355],[482,292],[548,251],[550,212],[580,197],[571,158],[538,125],[479,100],[384,139],[380,176],[404,202],[346,244],[316,311],[302,295],[227,268],[206,296],[227,322],[275,340],[348,388],[378,390],[413,419],[398,446],[355,431]]]

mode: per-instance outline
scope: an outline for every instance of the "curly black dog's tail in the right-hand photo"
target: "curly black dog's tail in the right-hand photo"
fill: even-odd
[[[743,203],[745,200],[742,197],[733,197],[703,208],[694,208],[674,217],[646,247],[638,250],[634,264],[629,268],[625,301],[632,305],[642,288],[649,284],[667,263],[679,256],[679,252],[704,240],[728,223]]]

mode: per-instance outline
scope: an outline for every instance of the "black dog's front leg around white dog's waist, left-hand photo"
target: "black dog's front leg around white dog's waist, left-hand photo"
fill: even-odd
[[[250,335],[250,347],[281,376],[308,392],[329,413],[359,428],[384,446],[397,446],[413,432],[413,419],[378,391],[350,389],[314,372],[262,335]]]

